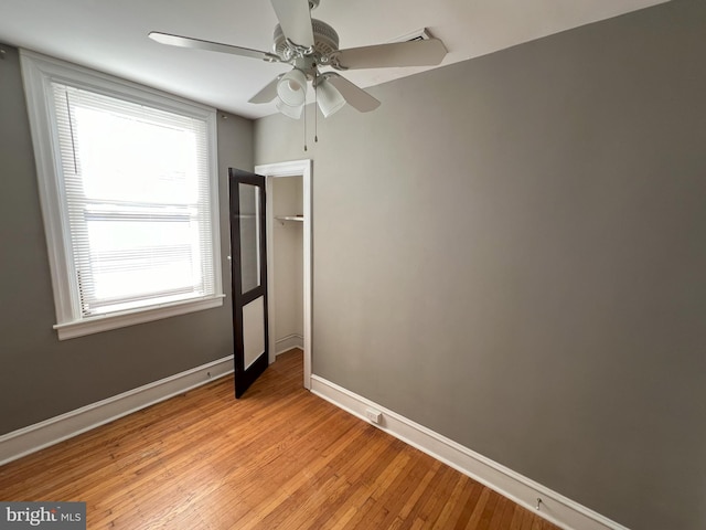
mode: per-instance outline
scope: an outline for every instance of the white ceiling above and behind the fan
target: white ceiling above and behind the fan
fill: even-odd
[[[321,0],[313,17],[341,49],[428,28],[443,64],[662,3],[664,0]],[[270,51],[268,0],[0,0],[0,42],[34,50],[206,103],[248,118],[276,112],[247,99],[287,65],[158,44],[151,30]],[[373,86],[428,68],[346,72]],[[384,104],[384,102],[383,102]]]

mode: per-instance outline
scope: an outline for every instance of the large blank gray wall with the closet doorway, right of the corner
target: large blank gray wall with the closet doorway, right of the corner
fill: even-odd
[[[630,528],[706,528],[706,2],[371,92],[308,152],[255,124],[256,163],[314,159],[313,373]]]

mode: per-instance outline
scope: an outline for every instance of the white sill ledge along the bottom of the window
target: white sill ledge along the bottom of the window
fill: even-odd
[[[54,329],[58,333],[58,340],[84,337],[86,335],[99,333],[110,329],[125,328],[136,324],[151,322],[163,318],[185,315],[188,312],[212,309],[223,305],[225,295],[216,295],[211,298],[201,298],[194,301],[181,301],[149,309],[125,311],[120,314],[90,317],[74,322],[57,324]]]

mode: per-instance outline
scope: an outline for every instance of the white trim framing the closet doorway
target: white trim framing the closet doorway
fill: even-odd
[[[304,381],[306,389],[311,389],[311,328],[312,328],[312,197],[313,197],[313,183],[312,183],[312,161],[306,160],[291,160],[288,162],[266,163],[255,167],[255,172],[266,177],[266,198],[267,198],[267,225],[266,225],[266,240],[267,240],[267,268],[274,271],[274,241],[272,241],[272,224],[274,224],[274,210],[272,210],[272,178],[277,177],[301,177],[302,178],[302,195],[303,195],[303,305],[304,305]],[[267,276],[267,290],[274,296],[275,287],[274,274]],[[268,304],[268,320],[269,320],[269,343],[275,343],[275,304],[270,300]],[[270,348],[269,362],[275,362],[275,348]]]

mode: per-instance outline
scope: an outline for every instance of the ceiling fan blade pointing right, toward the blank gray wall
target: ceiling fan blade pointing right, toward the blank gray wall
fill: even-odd
[[[332,65],[339,70],[434,66],[439,64],[446,54],[446,46],[438,39],[394,42],[341,50],[332,57]]]

